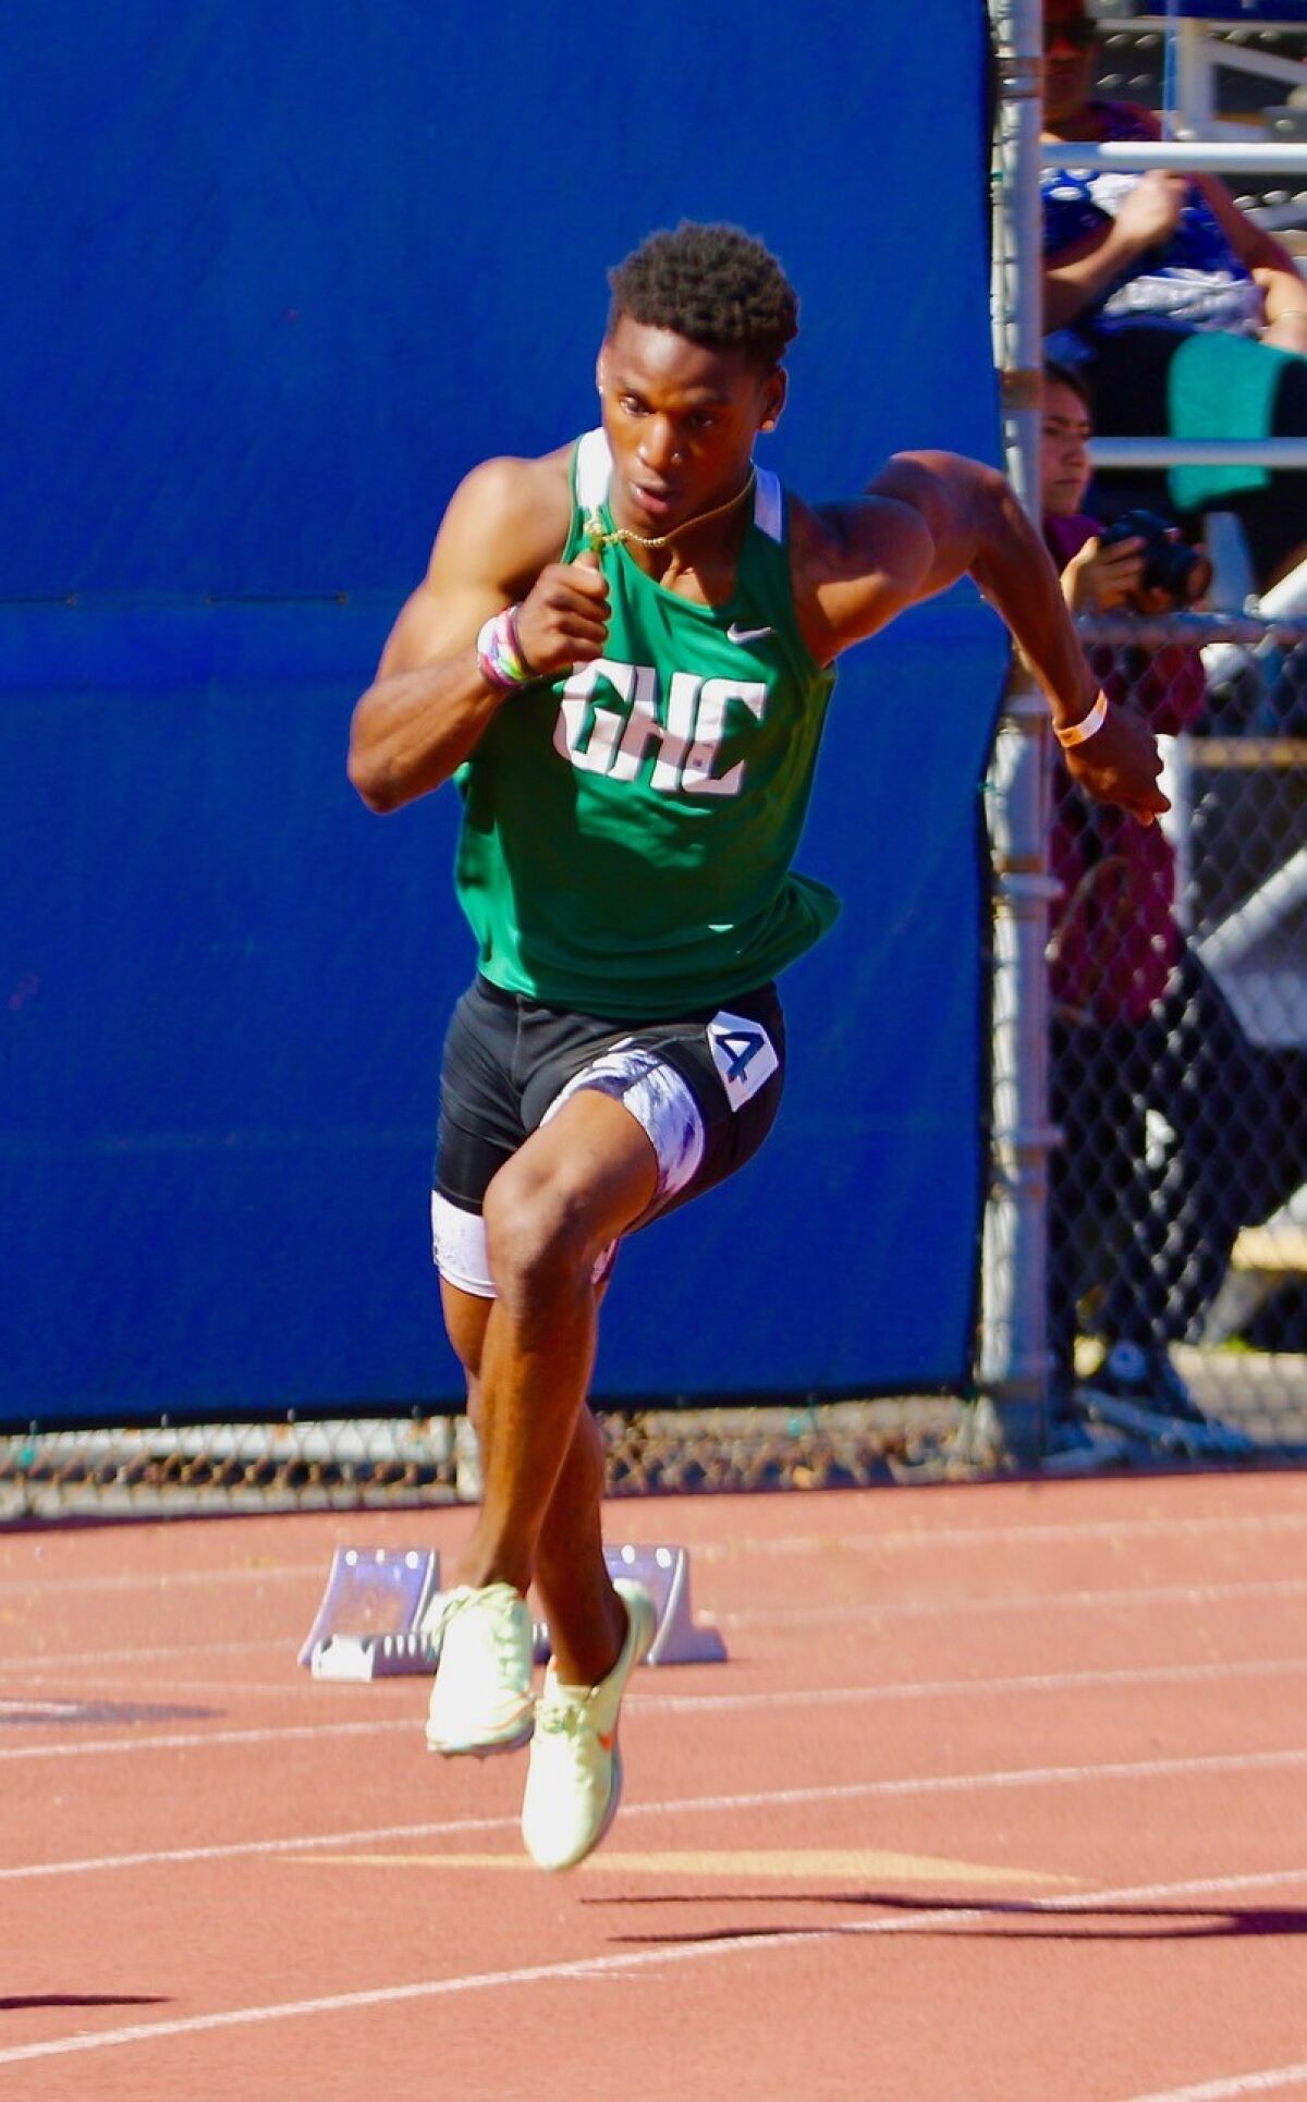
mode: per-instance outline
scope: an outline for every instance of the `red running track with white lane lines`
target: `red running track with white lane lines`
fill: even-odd
[[[609,1505],[731,1663],[643,1671],[569,1877],[521,1755],[296,1667],[330,1549],[0,1539],[0,2094],[1307,2096],[1307,1476]]]

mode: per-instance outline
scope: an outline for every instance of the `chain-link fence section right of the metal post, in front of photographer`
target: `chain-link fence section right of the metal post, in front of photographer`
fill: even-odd
[[[1143,830],[1055,769],[1055,1389],[1175,1450],[1301,1448],[1307,624],[1080,628],[1164,738],[1173,811]],[[1175,1436],[1185,1389],[1210,1436]]]

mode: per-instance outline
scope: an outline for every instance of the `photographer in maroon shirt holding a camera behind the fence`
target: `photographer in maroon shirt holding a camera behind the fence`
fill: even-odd
[[[1072,612],[1175,607],[1145,586],[1139,536],[1103,544],[1080,511],[1091,408],[1080,378],[1044,370],[1040,494],[1044,540]],[[1206,563],[1189,574],[1189,597]],[[1175,734],[1204,706],[1198,650],[1103,650],[1103,689],[1154,731]],[[1238,1156],[1250,1051],[1212,977],[1175,921],[1175,853],[1158,826],[1093,809],[1057,765],[1053,792],[1053,1156],[1049,1328],[1055,1362],[1053,1448],[1088,1452],[1074,1408],[1078,1301],[1103,1337],[1082,1387],[1093,1419],[1162,1448],[1233,1457],[1250,1440],[1204,1419],[1168,1345],[1212,1301],[1246,1219]],[[1091,1232],[1086,1232],[1091,1230]],[[1093,1234],[1093,1246],[1086,1246]],[[1095,1263],[1107,1274],[1095,1276]],[[1097,1286],[1095,1293],[1088,1286]]]

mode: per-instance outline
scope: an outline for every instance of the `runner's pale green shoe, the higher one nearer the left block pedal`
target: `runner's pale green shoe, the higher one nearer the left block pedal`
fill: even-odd
[[[445,1757],[517,1751],[536,1726],[527,1602],[511,1583],[460,1585],[439,1602],[439,1637],[427,1749]]]

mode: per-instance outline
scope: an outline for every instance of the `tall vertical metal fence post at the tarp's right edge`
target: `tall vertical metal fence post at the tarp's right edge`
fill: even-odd
[[[998,63],[994,347],[1007,465],[1038,515],[1040,0],[990,0]],[[1049,708],[1015,664],[990,774],[994,849],[992,1177],[981,1263],[977,1444],[1036,1459],[1049,1402]]]

